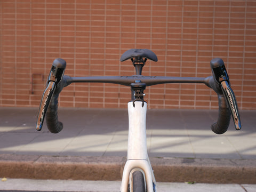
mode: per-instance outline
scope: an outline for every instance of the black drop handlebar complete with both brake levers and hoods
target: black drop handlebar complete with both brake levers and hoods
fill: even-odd
[[[37,117],[36,129],[41,131],[44,116],[50,132],[58,133],[62,130],[63,124],[58,121],[58,97],[63,87],[77,82],[98,82],[115,83],[131,86],[135,82],[145,83],[146,86],[163,83],[204,83],[211,87],[218,94],[219,115],[216,123],[211,125],[214,133],[222,134],[228,129],[230,114],[232,114],[236,129],[241,129],[238,108],[234,92],[229,86],[229,77],[223,61],[219,58],[211,61],[213,76],[200,77],[156,77],[156,76],[102,76],[102,77],[70,77],[64,75],[66,61],[55,59],[49,74],[46,89],[43,93],[39,113]],[[230,110],[231,109],[231,110]],[[47,112],[46,112],[47,111]],[[231,111],[231,113],[230,113]]]

